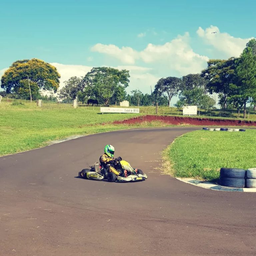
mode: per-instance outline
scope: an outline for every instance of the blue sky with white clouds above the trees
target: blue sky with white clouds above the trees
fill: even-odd
[[[128,93],[151,93],[162,77],[238,57],[256,36],[253,0],[1,0],[0,6],[0,77],[14,61],[38,58],[57,68],[60,88],[108,66],[130,70]]]

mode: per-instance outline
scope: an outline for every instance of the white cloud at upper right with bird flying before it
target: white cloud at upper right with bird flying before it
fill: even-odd
[[[223,56],[223,58],[239,57],[246,47],[246,43],[252,39],[242,39],[233,37],[228,33],[221,33],[218,27],[212,25],[205,30],[199,27],[197,34],[199,37],[203,38],[207,44],[212,45],[215,49],[224,53],[225,56]]]

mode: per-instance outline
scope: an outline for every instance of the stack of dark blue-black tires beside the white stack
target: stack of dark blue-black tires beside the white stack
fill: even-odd
[[[221,168],[219,184],[226,187],[244,188],[246,180],[246,170]],[[255,168],[255,184],[256,184],[256,168]]]

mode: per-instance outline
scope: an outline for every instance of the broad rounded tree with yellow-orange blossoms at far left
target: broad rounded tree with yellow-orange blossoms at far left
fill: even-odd
[[[1,87],[7,93],[16,92],[24,86],[24,82],[29,77],[30,83],[36,84],[39,89],[56,92],[59,87],[60,74],[57,69],[39,59],[18,60],[7,69],[1,78]],[[22,91],[22,90],[21,90]]]

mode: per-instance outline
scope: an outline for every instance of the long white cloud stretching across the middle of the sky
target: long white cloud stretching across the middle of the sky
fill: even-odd
[[[119,48],[113,44],[96,44],[91,50],[114,57],[125,64],[135,64],[137,60],[154,63],[159,69],[172,70],[179,75],[200,72],[208,60],[207,56],[195,53],[190,47],[188,33],[162,45],[148,44],[140,52],[131,47]]]

